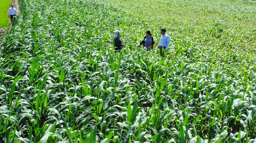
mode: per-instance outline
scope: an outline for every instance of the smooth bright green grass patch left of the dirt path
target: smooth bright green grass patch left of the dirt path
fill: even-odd
[[[8,27],[9,18],[7,16],[11,0],[0,0],[0,28]]]

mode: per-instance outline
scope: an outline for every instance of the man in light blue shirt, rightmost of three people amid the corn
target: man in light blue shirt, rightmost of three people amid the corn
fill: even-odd
[[[161,29],[161,35],[161,41],[160,44],[158,45],[158,48],[160,50],[160,55],[164,55],[165,50],[168,49],[170,45],[170,36],[166,33],[165,28]]]

